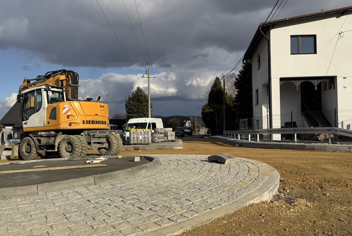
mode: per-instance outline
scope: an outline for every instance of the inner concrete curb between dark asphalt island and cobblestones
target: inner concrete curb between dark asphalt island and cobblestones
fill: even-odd
[[[160,160],[157,157],[149,157],[149,156],[143,156],[143,157],[147,160],[151,160],[151,162],[145,163],[140,166],[124,169],[124,170],[118,170],[115,172],[110,172],[110,173],[105,173],[100,175],[87,176],[87,177],[78,178],[78,179],[63,180],[63,181],[50,182],[50,183],[38,184],[38,185],[0,188],[0,199],[26,197],[26,196],[38,195],[38,194],[49,193],[49,192],[56,192],[56,191],[59,192],[64,189],[71,189],[76,187],[100,184],[102,182],[107,182],[110,180],[123,179],[130,176],[143,174],[161,165]],[[54,161],[54,160],[63,160],[63,159],[62,158],[52,159],[50,161]],[[43,161],[43,160],[37,160],[37,161]],[[25,163],[25,162],[28,162],[28,161],[21,161],[16,163]]]

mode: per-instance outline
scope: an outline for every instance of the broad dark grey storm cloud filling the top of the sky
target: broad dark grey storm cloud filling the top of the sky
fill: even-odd
[[[149,61],[134,1],[125,1],[139,45],[122,1],[99,0],[122,46],[137,68]],[[155,67],[180,67],[213,48],[245,51],[256,27],[265,21],[275,0],[136,1]],[[284,3],[284,2],[283,2]],[[283,4],[282,4],[283,5]],[[347,6],[331,1],[288,1],[279,18]],[[33,52],[44,61],[63,66],[130,67],[122,49],[95,1],[2,1],[0,48]],[[193,58],[194,59],[194,58]],[[201,68],[201,66],[199,66]]]

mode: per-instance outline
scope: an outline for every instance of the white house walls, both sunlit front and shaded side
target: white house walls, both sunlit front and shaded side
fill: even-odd
[[[284,77],[335,76],[335,89],[322,91],[322,110],[352,109],[350,94],[352,92],[352,16],[339,13],[301,19],[275,25],[266,36],[270,39],[271,54],[271,102],[272,114],[288,113],[291,110],[300,111],[300,91],[295,86],[279,85],[279,79]],[[341,31],[346,31],[339,34]],[[349,32],[347,32],[349,31]],[[291,35],[316,35],[316,54],[291,55]],[[262,39],[252,56],[253,96],[259,90],[259,104],[253,97],[254,116],[266,116],[268,99],[263,90],[268,82],[267,41]],[[256,58],[260,53],[261,66],[257,70]],[[345,79],[343,79],[345,77]],[[344,88],[345,86],[345,88]],[[294,88],[293,88],[294,87]],[[276,102],[280,100],[280,102]],[[340,128],[350,127],[352,123],[339,113]],[[277,123],[277,122],[276,122]],[[280,122],[279,122],[280,123]],[[263,118],[263,128],[266,118]],[[273,123],[273,128],[278,125]]]

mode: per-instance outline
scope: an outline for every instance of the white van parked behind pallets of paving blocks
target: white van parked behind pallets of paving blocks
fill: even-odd
[[[134,128],[133,128],[134,126]],[[123,143],[130,143],[129,129],[151,129],[154,132],[155,128],[164,128],[160,118],[133,118],[128,120],[122,137]]]

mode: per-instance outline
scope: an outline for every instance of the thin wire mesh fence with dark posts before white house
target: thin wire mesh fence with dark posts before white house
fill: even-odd
[[[325,117],[322,117],[323,116]],[[317,123],[322,118],[328,121]],[[242,125],[241,119],[241,125]],[[352,109],[346,110],[316,110],[316,111],[291,111],[290,113],[272,114],[272,128],[308,128],[308,127],[337,127],[351,130],[352,127]],[[311,125],[308,125],[310,123]],[[269,114],[265,116],[255,116],[251,118],[253,129],[268,129]],[[242,127],[240,127],[242,130]]]

